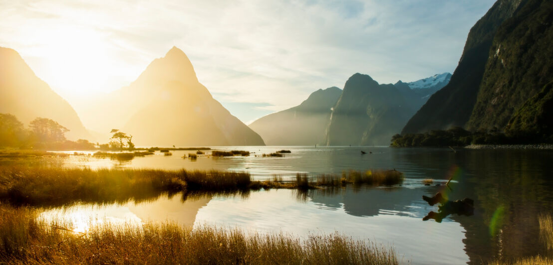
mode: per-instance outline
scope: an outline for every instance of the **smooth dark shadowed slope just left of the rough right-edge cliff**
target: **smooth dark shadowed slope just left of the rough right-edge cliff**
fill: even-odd
[[[451,81],[436,92],[405,125],[401,134],[464,126],[476,103],[479,86],[500,25],[512,17],[518,0],[499,0],[468,33],[463,54]]]

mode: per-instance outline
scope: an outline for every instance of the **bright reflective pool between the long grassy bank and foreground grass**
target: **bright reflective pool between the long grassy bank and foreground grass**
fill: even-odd
[[[148,221],[239,227],[247,232],[284,232],[302,238],[338,231],[393,246],[400,257],[414,264],[466,262],[463,227],[452,221],[421,221],[432,207],[413,198],[420,192],[404,188],[347,188],[333,192],[312,190],[302,197],[296,190],[273,189],[246,197],[189,197],[184,202],[181,194],[176,194],[142,203],[76,204],[45,210],[40,218],[71,221],[76,232],[86,232],[90,225],[105,222],[139,225]]]

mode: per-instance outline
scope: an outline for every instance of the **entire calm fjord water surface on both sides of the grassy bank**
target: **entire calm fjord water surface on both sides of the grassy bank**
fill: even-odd
[[[231,150],[228,147],[214,149]],[[291,150],[285,157],[262,153]],[[46,219],[69,219],[77,231],[88,222],[175,221],[182,225],[215,224],[246,231],[284,232],[300,237],[340,232],[393,246],[414,264],[479,264],[501,257],[545,253],[537,216],[553,206],[553,152],[545,150],[397,149],[390,147],[232,147],[251,156],[183,159],[192,151],[156,152],[131,161],[89,156],[64,158],[65,166],[163,169],[222,169],[251,172],[255,179],[284,179],[305,172],[340,174],[349,169],[396,169],[405,181],[392,187],[310,190],[260,190],[247,194],[162,195],[147,202],[75,204],[45,209]],[[361,155],[361,151],[367,152]],[[255,153],[253,153],[255,152]],[[209,152],[207,152],[209,153]],[[453,177],[449,187],[444,183]],[[422,179],[432,178],[432,186]],[[436,186],[440,184],[440,186]],[[442,222],[422,221],[431,210],[422,195],[472,198],[474,215],[450,215]]]

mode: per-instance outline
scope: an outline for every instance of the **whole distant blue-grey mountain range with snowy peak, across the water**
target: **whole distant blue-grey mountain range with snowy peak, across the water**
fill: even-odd
[[[378,84],[356,73],[343,91],[319,89],[300,105],[264,116],[249,127],[267,145],[388,145],[450,77],[442,73],[409,83]]]

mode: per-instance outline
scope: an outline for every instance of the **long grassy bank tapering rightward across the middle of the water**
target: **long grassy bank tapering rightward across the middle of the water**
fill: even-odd
[[[0,200],[18,205],[60,205],[150,198],[162,192],[233,192],[260,188],[310,189],[347,184],[391,185],[403,180],[398,171],[345,172],[342,177],[307,177],[253,181],[248,172],[166,171],[156,169],[0,166]]]

